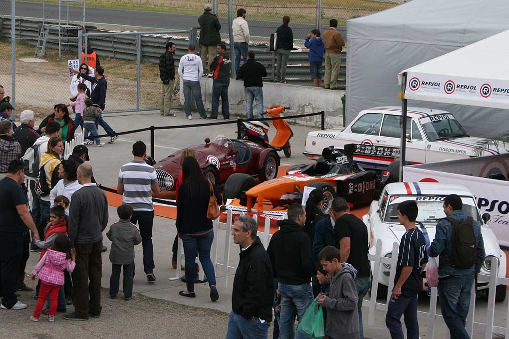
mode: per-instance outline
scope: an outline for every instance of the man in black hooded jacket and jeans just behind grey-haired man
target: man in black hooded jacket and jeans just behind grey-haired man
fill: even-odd
[[[270,239],[269,254],[278,279],[278,291],[281,296],[281,315],[279,317],[279,335],[289,338],[293,332],[295,311],[300,321],[313,302],[311,277],[316,275],[311,254],[311,241],[304,233],[306,211],[298,203],[288,206],[288,220],[277,223],[279,231]],[[305,339],[301,333],[295,334],[296,339]]]

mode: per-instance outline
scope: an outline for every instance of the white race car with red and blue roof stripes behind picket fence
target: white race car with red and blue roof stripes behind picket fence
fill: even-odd
[[[438,182],[394,182],[385,186],[379,201],[373,201],[370,210],[364,215],[362,220],[368,227],[370,236],[370,254],[375,255],[374,244],[378,239],[382,239],[382,255],[392,257],[392,244],[398,243],[405,233],[405,227],[398,221],[398,204],[406,200],[415,200],[419,207],[417,222],[422,223],[426,228],[429,241],[435,238],[435,230],[438,221],[445,218],[443,212],[443,200],[449,194],[457,194],[463,200],[463,211],[465,214],[477,220],[481,225],[483,234],[486,260],[481,268],[482,274],[490,274],[491,258],[498,259],[498,276],[505,278],[506,257],[500,249],[497,238],[487,223],[483,220],[489,219],[489,215],[483,215],[481,218],[479,209],[475,204],[475,198],[468,188],[458,184],[444,184]],[[419,227],[419,226],[418,226]],[[423,232],[424,233],[424,232]],[[371,262],[371,269],[374,272],[374,262]],[[383,264],[379,276],[379,293],[386,295],[389,285],[390,265]],[[423,282],[423,288],[427,289],[426,279]],[[479,283],[478,290],[487,289],[487,283]],[[505,299],[505,285],[497,286],[496,301]]]

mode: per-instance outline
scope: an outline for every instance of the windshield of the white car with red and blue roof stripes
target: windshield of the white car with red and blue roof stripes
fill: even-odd
[[[398,204],[406,200],[414,200],[419,207],[419,214],[417,214],[416,221],[425,225],[436,225],[440,219],[445,218],[445,213],[442,207],[444,199],[445,196],[390,196],[388,199],[389,205],[387,206],[387,211],[384,216],[384,222],[399,224]],[[483,222],[480,219],[474,198],[461,197],[461,200],[463,201],[463,212],[469,217],[472,217],[474,220],[477,220],[479,225],[482,225]]]

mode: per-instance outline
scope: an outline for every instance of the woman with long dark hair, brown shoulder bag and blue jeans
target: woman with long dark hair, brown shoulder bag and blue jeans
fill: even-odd
[[[177,231],[182,238],[185,256],[186,291],[179,294],[194,298],[195,259],[200,258],[210,286],[210,299],[216,301],[219,294],[216,288],[216,274],[210,260],[210,248],[214,240],[212,221],[207,218],[207,208],[212,184],[205,178],[200,165],[193,157],[182,162],[182,184],[177,200]]]

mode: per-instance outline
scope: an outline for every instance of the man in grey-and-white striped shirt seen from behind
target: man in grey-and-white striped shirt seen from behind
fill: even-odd
[[[142,234],[143,266],[147,281],[156,281],[154,275],[154,246],[152,244],[152,225],[154,223],[154,205],[152,194],[159,194],[159,184],[154,167],[145,162],[147,145],[136,141],[132,145],[134,160],[120,168],[117,191],[123,195],[122,202],[131,206],[134,213],[131,223],[138,223]]]

